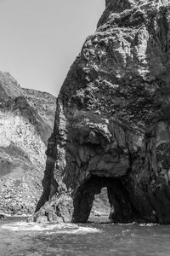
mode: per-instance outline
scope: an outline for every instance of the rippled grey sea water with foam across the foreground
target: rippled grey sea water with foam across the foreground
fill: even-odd
[[[0,256],[170,255],[170,226],[0,220]]]

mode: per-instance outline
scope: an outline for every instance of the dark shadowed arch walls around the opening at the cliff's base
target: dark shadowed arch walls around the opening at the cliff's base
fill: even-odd
[[[133,206],[128,193],[122,186],[122,180],[115,177],[99,177],[93,175],[80,185],[74,196],[74,212],[72,222],[88,221],[93,207],[94,195],[98,195],[106,187],[111,205],[110,219],[113,222],[127,223],[134,220]]]

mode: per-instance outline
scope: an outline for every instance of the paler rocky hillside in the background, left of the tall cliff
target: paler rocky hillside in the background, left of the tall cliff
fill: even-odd
[[[42,194],[55,97],[0,72],[0,212],[31,214]]]

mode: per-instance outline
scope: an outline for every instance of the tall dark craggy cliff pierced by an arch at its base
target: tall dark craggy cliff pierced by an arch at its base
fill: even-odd
[[[169,1],[106,1],[60,90],[34,219],[170,223]]]

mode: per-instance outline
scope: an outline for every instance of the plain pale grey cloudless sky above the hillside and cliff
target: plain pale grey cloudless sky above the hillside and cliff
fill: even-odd
[[[105,0],[0,0],[0,70],[57,96],[104,9]]]

